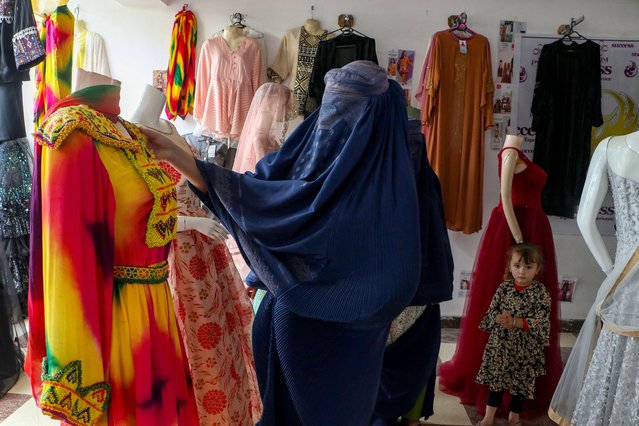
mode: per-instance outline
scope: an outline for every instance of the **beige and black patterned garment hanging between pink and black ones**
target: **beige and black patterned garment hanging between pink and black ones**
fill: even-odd
[[[299,114],[310,114],[317,105],[307,104],[308,86],[315,66],[317,48],[321,41],[326,40],[328,31],[314,35],[306,31],[304,26],[288,31],[282,37],[280,49],[269,68],[273,81],[283,82],[289,75],[289,87],[295,93]]]

